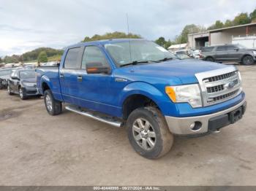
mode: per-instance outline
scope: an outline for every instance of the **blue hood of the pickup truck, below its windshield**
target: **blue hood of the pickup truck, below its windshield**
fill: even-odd
[[[137,66],[127,66],[124,68],[117,69],[117,77],[127,76],[138,80],[141,78],[147,79],[158,78],[166,79],[167,82],[170,82],[171,79],[179,79],[180,84],[192,84],[197,83],[197,78],[195,74],[203,71],[211,71],[216,69],[222,69],[228,67],[222,63],[213,63],[207,61],[199,61],[196,59],[187,59],[187,60],[173,60],[166,61],[162,63],[149,63]],[[123,74],[123,75],[122,75]],[[174,80],[177,84],[178,81]]]

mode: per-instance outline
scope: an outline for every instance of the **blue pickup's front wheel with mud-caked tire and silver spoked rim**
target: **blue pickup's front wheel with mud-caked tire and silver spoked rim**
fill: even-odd
[[[173,146],[173,134],[167,128],[165,118],[152,106],[135,109],[129,114],[127,133],[133,149],[148,159],[162,157]]]

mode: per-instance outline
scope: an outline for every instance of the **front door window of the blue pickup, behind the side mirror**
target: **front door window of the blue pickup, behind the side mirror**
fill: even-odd
[[[82,69],[86,66],[109,66],[99,47],[89,46],[83,52]]]

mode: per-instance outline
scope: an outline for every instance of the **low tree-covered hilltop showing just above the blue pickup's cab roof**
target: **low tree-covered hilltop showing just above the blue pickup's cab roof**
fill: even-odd
[[[83,39],[83,42],[91,42],[91,41],[97,41],[97,40],[105,40],[105,39],[141,39],[142,37],[138,34],[125,34],[122,32],[113,32],[113,33],[106,33],[103,35],[95,34],[91,38],[89,36],[86,36]]]

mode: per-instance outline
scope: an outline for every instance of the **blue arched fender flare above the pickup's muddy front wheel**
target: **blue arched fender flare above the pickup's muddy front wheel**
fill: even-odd
[[[144,95],[148,98],[150,98],[154,103],[159,106],[159,109],[162,111],[162,109],[165,109],[166,102],[170,102],[170,98],[167,97],[167,95],[163,92],[161,92],[157,87],[154,87],[153,85],[150,85],[146,82],[133,82],[124,87],[124,89],[120,93],[120,99],[118,101],[119,106],[123,106],[124,101],[130,96],[130,95]]]

